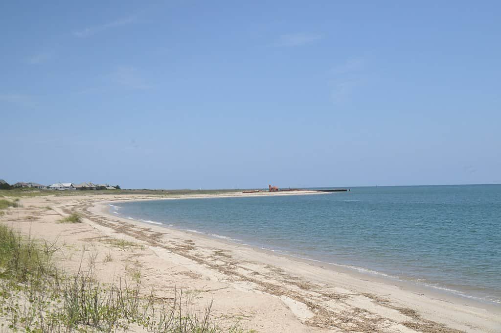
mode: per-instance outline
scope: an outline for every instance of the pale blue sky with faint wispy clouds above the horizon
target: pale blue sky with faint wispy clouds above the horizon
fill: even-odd
[[[0,179],[501,183],[499,2],[3,2]]]

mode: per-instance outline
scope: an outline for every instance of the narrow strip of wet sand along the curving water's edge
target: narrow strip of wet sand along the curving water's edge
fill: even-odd
[[[306,195],[310,195],[312,193],[307,193]],[[322,194],[322,193],[320,193]],[[325,193],[324,193],[325,194]],[[260,194],[257,194],[258,196]],[[261,195],[273,195],[273,194],[261,194]],[[284,194],[284,195],[289,195],[289,194]],[[290,194],[290,195],[298,195],[298,194]],[[299,194],[301,195],[301,194]],[[251,195],[252,196],[252,195]],[[168,198],[165,200],[179,200],[179,199],[210,199],[210,198],[232,198],[232,197],[248,197],[248,196],[232,196],[232,195],[222,195],[222,196],[205,196],[205,197],[183,197],[183,198]],[[158,201],[158,200],[163,200],[161,198],[159,199],[137,199],[137,200],[127,200],[127,201],[113,201],[113,203],[119,204],[121,202],[139,202],[139,201]],[[205,238],[208,240],[213,240],[215,242],[224,242],[228,244],[234,244],[237,246],[243,246],[243,247],[249,247],[252,248],[254,251],[262,251],[264,253],[267,253],[269,255],[275,255],[279,257],[287,257],[291,258],[292,260],[298,260],[303,263],[307,264],[313,264],[318,267],[324,267],[328,266],[329,269],[335,271],[335,272],[341,272],[344,274],[349,274],[349,275],[354,275],[354,277],[363,279],[365,277],[371,277],[373,279],[377,279],[379,282],[384,283],[384,284],[394,284],[394,283],[400,283],[406,285],[407,289],[413,289],[414,292],[416,293],[433,293],[434,297],[440,297],[440,298],[447,298],[447,301],[451,302],[463,302],[467,303],[468,306],[486,306],[486,307],[492,307],[493,309],[501,309],[501,302],[496,302],[493,300],[488,300],[484,299],[481,297],[476,297],[473,295],[468,295],[466,293],[463,293],[460,290],[454,290],[450,289],[447,287],[442,287],[442,286],[434,286],[431,284],[426,284],[426,283],[419,283],[419,282],[414,282],[410,281],[407,279],[402,279],[398,276],[392,276],[389,274],[386,274],[385,272],[380,272],[380,271],[375,271],[370,268],[366,267],[359,267],[359,266],[354,266],[354,265],[346,265],[346,264],[339,264],[339,263],[333,263],[333,262],[326,262],[314,258],[306,258],[306,257],[301,257],[296,254],[290,254],[290,253],[284,253],[282,250],[278,249],[268,249],[261,247],[259,245],[253,245],[253,244],[245,244],[241,243],[242,240],[237,240],[237,239],[231,239],[225,235],[217,235],[214,233],[208,233],[208,232],[200,232],[197,230],[190,230],[190,229],[182,229],[182,228],[177,228],[173,225],[166,225],[160,222],[156,221],[151,221],[147,222],[146,220],[141,220],[141,219],[135,219],[132,217],[124,217],[121,216],[118,212],[116,215],[113,215],[112,212],[110,212],[110,209],[115,206],[111,205],[111,202],[105,201],[99,204],[96,204],[96,206],[102,206],[102,213],[105,216],[108,217],[119,217],[121,219],[124,219],[126,221],[132,221],[134,223],[138,223],[141,225],[147,225],[147,226],[156,226],[160,228],[166,228],[169,230],[176,230],[180,232],[186,232],[188,234],[192,234],[192,237],[201,237]]]

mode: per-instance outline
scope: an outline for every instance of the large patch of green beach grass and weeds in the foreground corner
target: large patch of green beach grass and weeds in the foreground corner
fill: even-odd
[[[82,254],[78,272],[67,275],[55,265],[56,251],[54,243],[25,239],[0,225],[0,331],[244,332],[236,325],[220,328],[212,322],[212,303],[196,312],[182,292],[165,298],[151,290],[143,296],[140,274],[134,282],[119,278],[115,284],[99,283],[94,273],[97,254],[90,256],[86,269]]]

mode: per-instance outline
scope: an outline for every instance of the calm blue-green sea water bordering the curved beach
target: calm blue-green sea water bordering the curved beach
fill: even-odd
[[[501,300],[501,185],[128,202],[111,210],[445,292]]]

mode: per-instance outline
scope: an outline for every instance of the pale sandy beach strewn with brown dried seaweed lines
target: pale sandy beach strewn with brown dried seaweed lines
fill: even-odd
[[[295,193],[295,194],[306,194]],[[291,195],[280,193],[274,195]],[[228,193],[219,197],[270,195]],[[202,198],[208,195],[182,196]],[[145,289],[176,290],[203,309],[211,301],[223,325],[258,332],[500,332],[501,306],[421,288],[321,262],[280,255],[192,232],[122,219],[109,204],[160,200],[146,195],[21,198],[0,222],[56,241],[59,262],[78,269],[97,256],[96,273],[110,283],[134,272]],[[82,223],[58,221],[72,213]],[[115,246],[123,240],[123,246]],[[105,255],[112,261],[104,260]]]

